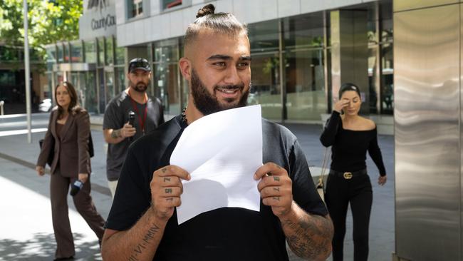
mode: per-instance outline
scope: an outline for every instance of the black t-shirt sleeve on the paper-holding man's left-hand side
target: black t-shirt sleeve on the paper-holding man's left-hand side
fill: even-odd
[[[150,196],[145,195],[142,186],[145,183],[140,163],[131,146],[120,171],[118,188],[111,206],[105,228],[112,230],[128,230],[135,225],[150,207]]]

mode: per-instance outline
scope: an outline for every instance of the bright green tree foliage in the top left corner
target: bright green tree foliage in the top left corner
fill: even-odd
[[[31,59],[45,61],[44,46],[78,39],[82,0],[28,0],[28,41]],[[24,46],[23,0],[0,0],[0,44]],[[11,48],[0,59],[15,60]]]

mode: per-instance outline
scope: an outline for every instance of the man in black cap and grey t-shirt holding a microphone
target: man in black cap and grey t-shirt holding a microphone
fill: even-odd
[[[103,135],[108,143],[106,175],[113,198],[130,143],[164,123],[160,100],[151,98],[146,91],[151,80],[150,63],[145,58],[133,58],[127,78],[129,87],[108,103],[103,119]]]

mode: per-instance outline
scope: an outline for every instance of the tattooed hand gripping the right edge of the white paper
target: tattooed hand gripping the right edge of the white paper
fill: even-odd
[[[254,179],[261,179],[257,189],[261,193],[262,203],[271,206],[279,218],[288,214],[293,203],[293,188],[286,170],[275,163],[266,163],[256,170]]]

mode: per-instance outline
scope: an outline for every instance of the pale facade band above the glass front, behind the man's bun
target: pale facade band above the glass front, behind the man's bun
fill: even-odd
[[[88,0],[84,0],[88,1]],[[118,46],[145,44],[184,35],[205,4],[214,4],[216,12],[234,14],[246,24],[316,11],[338,9],[375,0],[191,0],[192,6],[161,13],[160,0],[150,0],[150,17],[126,21],[125,0],[117,0]]]

